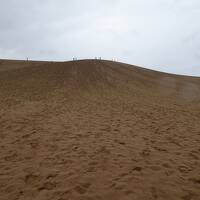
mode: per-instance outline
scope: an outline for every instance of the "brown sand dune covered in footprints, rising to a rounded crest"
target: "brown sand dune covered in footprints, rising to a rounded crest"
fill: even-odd
[[[0,60],[0,199],[199,200],[200,78]]]

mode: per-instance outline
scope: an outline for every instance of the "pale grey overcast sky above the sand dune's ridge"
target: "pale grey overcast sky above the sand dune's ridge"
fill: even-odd
[[[199,0],[0,0],[0,58],[104,59],[200,76]]]

